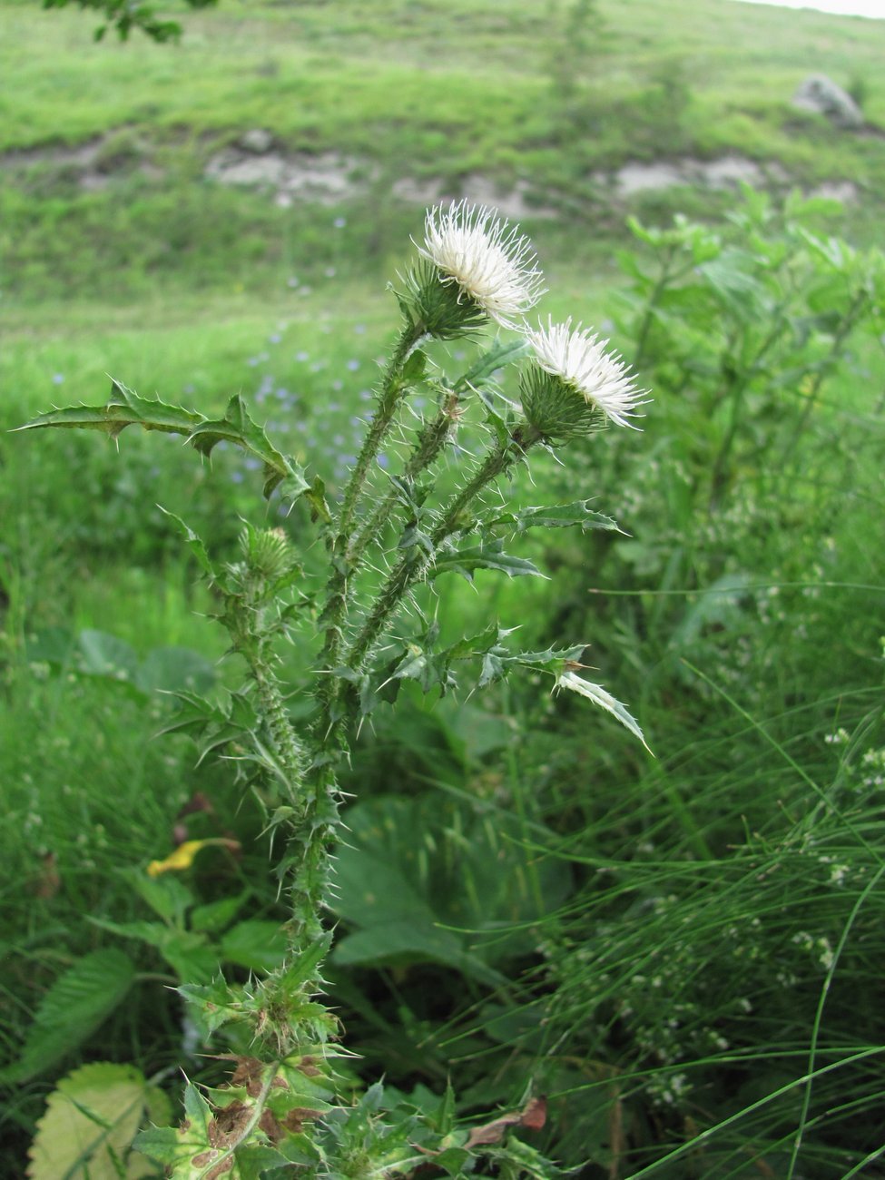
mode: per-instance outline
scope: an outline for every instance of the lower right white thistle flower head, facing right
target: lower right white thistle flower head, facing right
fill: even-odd
[[[559,378],[612,422],[638,430],[629,419],[636,418],[638,407],[650,399],[644,396],[645,391],[636,388],[621,358],[607,352],[608,340],[599,340],[581,324],[572,328],[570,319],[564,323],[551,319],[546,328],[539,324],[537,332],[527,330],[525,336],[545,373]]]

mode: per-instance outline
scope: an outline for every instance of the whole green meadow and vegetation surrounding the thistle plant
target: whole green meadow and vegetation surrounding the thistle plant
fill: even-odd
[[[734,0],[169,8],[183,37],[156,45],[0,2],[0,1172],[160,1175],[129,1150],[138,1123],[175,1126],[182,1074],[217,1086],[247,1051],[172,990],[273,971],[288,911],[231,760],[158,736],[170,694],[236,684],[166,513],[218,560],[244,519],[308,531],[232,446],[9,432],[103,405],[109,374],[209,417],[241,394],[334,502],[435,194],[518,201],[540,314],[595,324],[653,400],[642,433],[506,485],[622,532],[522,532],[545,578],[479,570],[418,604],[445,644],[493,623],[529,651],[586,644],[651,753],[539,673],[379,702],[341,780],[323,969],[353,1101],[384,1075],[391,1104],[441,1117],[451,1082],[481,1125],[544,1095],[544,1126],[474,1174],[548,1180],[540,1153],[585,1180],[885,1175],[885,22]],[[789,105],[811,72],[861,130]],[[332,179],[209,175],[250,152]],[[753,183],[617,181],[723,158]],[[427,352],[434,374],[464,362]],[[418,419],[433,396],[428,378]],[[282,656],[295,721],[317,653]],[[59,1081],[104,1062],[151,1082],[119,1154],[28,1163]]]

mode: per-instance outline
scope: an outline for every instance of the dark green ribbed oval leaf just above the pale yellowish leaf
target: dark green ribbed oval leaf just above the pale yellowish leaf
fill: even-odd
[[[21,1057],[2,1076],[24,1081],[54,1066],[122,1003],[135,974],[132,961],[116,948],[92,951],[74,963],[40,1001]]]

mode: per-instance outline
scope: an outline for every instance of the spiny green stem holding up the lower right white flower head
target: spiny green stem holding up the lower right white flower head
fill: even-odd
[[[499,441],[489,451],[485,461],[477,468],[473,478],[452,497],[437,527],[430,536],[427,551],[422,552],[419,557],[404,551],[393,570],[391,570],[387,581],[381,586],[375,599],[375,605],[369,611],[359,635],[346,654],[345,660],[348,668],[354,671],[362,668],[367,655],[374,647],[391,615],[399,607],[409,588],[427,572],[439,546],[452,533],[458,532],[470,524],[468,520],[464,519],[463,513],[471,500],[487,484],[507,471],[540,438],[540,433],[529,425],[516,427],[506,439]]]

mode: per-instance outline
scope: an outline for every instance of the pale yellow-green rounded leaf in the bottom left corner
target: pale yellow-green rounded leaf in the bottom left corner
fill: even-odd
[[[37,1125],[30,1180],[120,1180],[150,1175],[146,1160],[124,1162],[149,1103],[135,1066],[97,1062],[63,1079]]]

